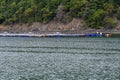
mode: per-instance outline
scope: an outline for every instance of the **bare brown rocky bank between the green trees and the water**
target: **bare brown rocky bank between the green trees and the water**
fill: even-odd
[[[118,24],[114,29],[91,29],[86,27],[86,25],[80,19],[73,19],[70,23],[63,24],[56,21],[51,21],[48,24],[34,22],[29,24],[10,24],[10,25],[0,25],[0,33],[35,33],[35,34],[48,34],[48,33],[65,33],[65,34],[85,34],[85,33],[111,33],[120,34],[120,24]]]

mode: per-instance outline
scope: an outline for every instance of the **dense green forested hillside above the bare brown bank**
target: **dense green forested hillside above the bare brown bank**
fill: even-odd
[[[91,28],[114,28],[119,0],[0,0],[0,24],[69,23],[82,19]]]

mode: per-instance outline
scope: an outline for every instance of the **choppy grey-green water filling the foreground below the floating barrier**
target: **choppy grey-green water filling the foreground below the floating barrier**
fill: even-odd
[[[120,80],[120,38],[0,37],[0,80]]]

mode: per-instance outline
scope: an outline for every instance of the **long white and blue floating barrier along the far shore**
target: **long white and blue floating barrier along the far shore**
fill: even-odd
[[[3,37],[102,37],[103,34],[91,33],[91,34],[14,34],[14,33],[1,33],[0,36]]]

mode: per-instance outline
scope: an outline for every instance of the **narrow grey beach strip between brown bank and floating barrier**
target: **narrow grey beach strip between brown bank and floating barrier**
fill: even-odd
[[[11,32],[11,31],[2,31],[0,32],[0,34],[2,33],[12,33],[12,34],[29,34],[29,33],[32,33],[32,34],[54,34],[56,32],[59,32],[59,33],[63,33],[63,34],[90,34],[90,33],[109,33],[109,34],[118,34],[120,35],[120,30],[116,30],[116,29],[107,29],[107,30],[104,30],[104,29],[84,29],[84,30],[53,30],[53,31],[26,31],[26,32],[23,32],[23,31],[19,31],[19,32]]]

